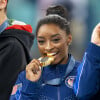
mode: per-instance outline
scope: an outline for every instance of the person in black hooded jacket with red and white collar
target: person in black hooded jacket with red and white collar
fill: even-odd
[[[18,73],[31,60],[32,27],[7,18],[7,0],[0,0],[0,100],[8,100]]]

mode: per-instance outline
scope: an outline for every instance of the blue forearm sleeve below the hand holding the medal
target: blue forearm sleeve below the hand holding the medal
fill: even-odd
[[[20,98],[18,100],[39,100],[38,90],[38,82],[32,82],[25,79],[22,84],[22,90],[20,92]]]

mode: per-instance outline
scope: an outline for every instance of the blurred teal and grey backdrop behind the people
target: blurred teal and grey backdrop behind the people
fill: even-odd
[[[35,35],[38,20],[45,16],[48,6],[55,4],[62,4],[69,11],[73,36],[69,51],[77,60],[81,60],[90,41],[92,30],[100,22],[99,0],[9,0],[7,15],[8,18],[32,25]],[[31,55],[33,58],[40,56],[36,39]]]

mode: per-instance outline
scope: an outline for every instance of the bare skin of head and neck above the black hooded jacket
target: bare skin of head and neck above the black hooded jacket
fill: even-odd
[[[7,19],[6,6],[7,0],[0,0],[0,25]]]

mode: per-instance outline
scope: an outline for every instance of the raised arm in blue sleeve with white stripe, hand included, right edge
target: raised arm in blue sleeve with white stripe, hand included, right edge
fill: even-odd
[[[85,100],[95,95],[100,89],[100,24],[91,37],[91,43],[78,67],[74,91],[77,97]]]

